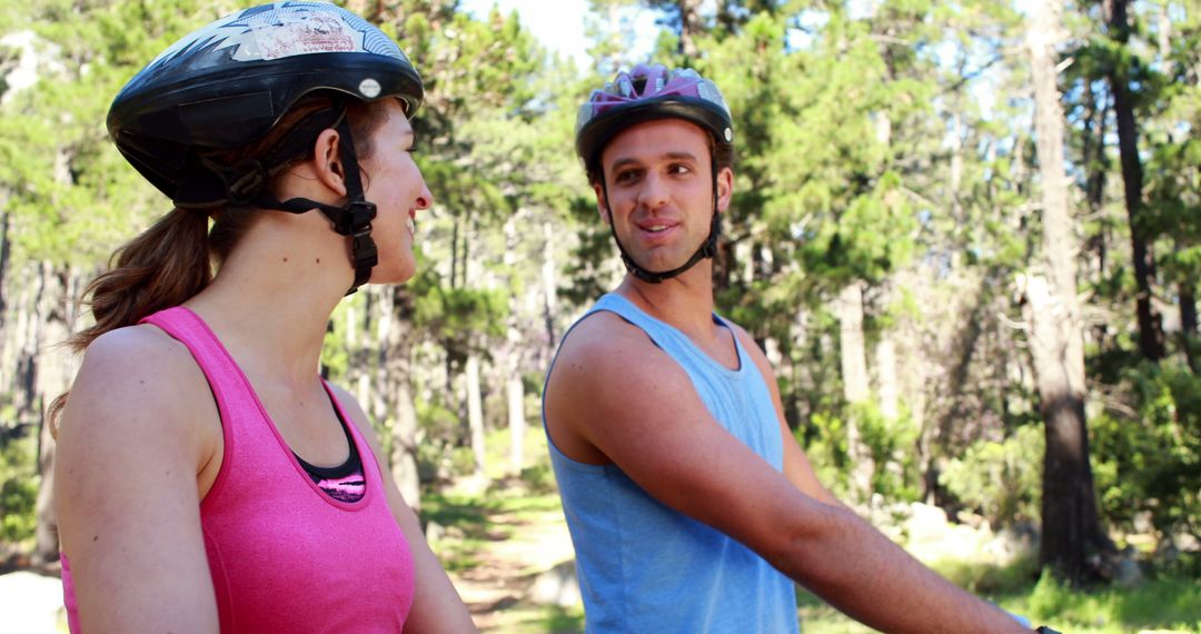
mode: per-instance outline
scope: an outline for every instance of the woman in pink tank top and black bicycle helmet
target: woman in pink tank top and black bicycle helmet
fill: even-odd
[[[73,632],[474,632],[317,373],[347,289],[413,275],[422,96],[395,43],[318,2],[219,19],[116,96],[113,139],[175,209],[89,287],[56,403]]]

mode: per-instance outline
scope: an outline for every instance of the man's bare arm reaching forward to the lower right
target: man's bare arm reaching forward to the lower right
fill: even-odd
[[[868,626],[1024,632],[854,513],[802,492],[727,432],[683,370],[616,317],[575,328],[555,363],[546,408],[556,444],[572,436],[593,445],[668,507],[746,544]]]

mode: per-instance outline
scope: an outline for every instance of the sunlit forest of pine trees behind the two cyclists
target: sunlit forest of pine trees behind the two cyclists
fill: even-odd
[[[554,492],[545,371],[625,274],[575,113],[646,61],[629,52],[650,13],[652,58],[712,78],[734,114],[718,311],[766,352],[821,482],[872,518],[922,504],[1033,536],[1014,587],[1058,608],[1028,612],[1141,585],[1172,606],[1128,628],[1201,632],[1194,0],[590,0],[582,68],[518,12],[339,4],[422,72],[416,157],[435,205],[418,275],[345,299],[321,372],[364,403],[428,520],[453,524],[461,482],[485,506]],[[90,319],[82,291],[169,208],[108,139],[108,106],[239,6],[0,5],[7,567],[58,556],[44,414],[78,367],[61,343]]]

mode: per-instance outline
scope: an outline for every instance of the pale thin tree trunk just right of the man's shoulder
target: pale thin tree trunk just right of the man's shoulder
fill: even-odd
[[[872,485],[871,453],[860,435],[859,407],[867,402],[871,387],[867,379],[867,353],[864,346],[864,288],[852,282],[838,293],[839,348],[842,359],[842,390],[847,409],[847,453],[852,462],[852,484],[855,495],[867,495]]]

